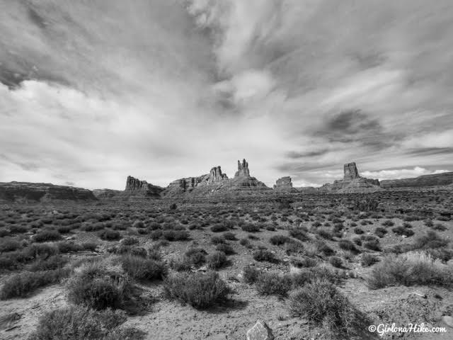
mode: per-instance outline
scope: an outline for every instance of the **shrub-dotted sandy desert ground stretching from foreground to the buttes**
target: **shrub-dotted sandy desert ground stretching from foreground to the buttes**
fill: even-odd
[[[246,339],[258,319],[279,340],[452,339],[452,207],[442,188],[5,203],[0,339]],[[393,323],[444,331],[368,330]]]

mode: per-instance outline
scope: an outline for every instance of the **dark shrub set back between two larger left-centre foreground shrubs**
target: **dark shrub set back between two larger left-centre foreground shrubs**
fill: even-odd
[[[162,280],[167,269],[164,262],[124,255],[120,258],[122,269],[136,280]]]

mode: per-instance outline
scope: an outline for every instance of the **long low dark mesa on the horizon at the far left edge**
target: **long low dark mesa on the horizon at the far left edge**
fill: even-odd
[[[96,200],[92,191],[72,186],[55,186],[50,183],[9,182],[0,183],[0,200],[37,201]]]

